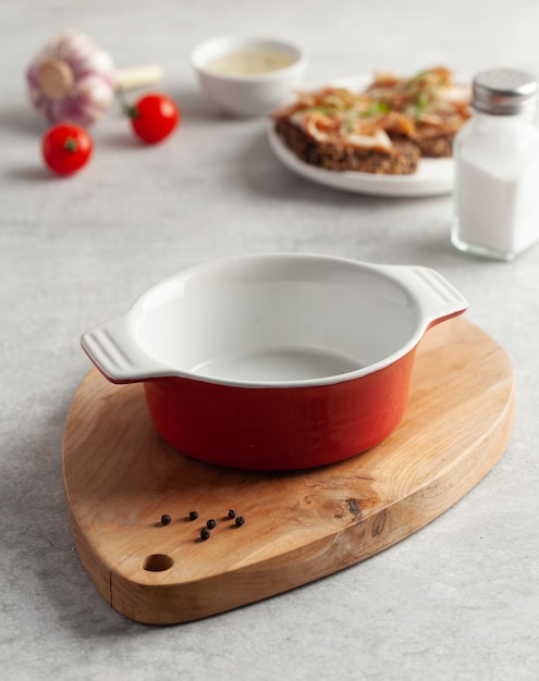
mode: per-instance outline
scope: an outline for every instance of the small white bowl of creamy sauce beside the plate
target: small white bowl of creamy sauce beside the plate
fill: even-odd
[[[253,71],[230,71],[231,57],[237,58],[238,54]],[[260,59],[262,54],[273,62],[272,70],[256,70],[256,57]],[[271,58],[282,60],[282,64],[274,67]],[[216,60],[221,63],[218,65]],[[199,45],[193,51],[191,62],[203,91],[218,109],[236,116],[260,116],[270,113],[298,86],[308,57],[292,42],[228,36]]]

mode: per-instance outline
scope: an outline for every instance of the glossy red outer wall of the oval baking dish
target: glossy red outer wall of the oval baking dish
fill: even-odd
[[[208,463],[250,470],[324,466],[373,447],[399,424],[415,350],[379,371],[329,385],[149,380],[148,410],[170,445]]]

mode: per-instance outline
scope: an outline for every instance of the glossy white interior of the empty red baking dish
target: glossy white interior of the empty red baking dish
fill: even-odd
[[[384,362],[419,324],[409,293],[359,263],[254,258],[150,289],[132,310],[144,350],[198,377],[286,382]]]

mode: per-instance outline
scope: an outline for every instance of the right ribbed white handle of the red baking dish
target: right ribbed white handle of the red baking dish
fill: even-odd
[[[426,327],[466,311],[464,296],[436,270],[421,265],[390,265],[401,270],[403,281],[419,301]]]

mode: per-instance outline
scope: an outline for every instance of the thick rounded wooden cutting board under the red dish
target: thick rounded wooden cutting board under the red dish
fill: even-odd
[[[139,622],[183,622],[294,589],[391,546],[462,498],[507,445],[513,392],[505,352],[457,318],[421,340],[404,419],[381,445],[320,469],[260,473],[172,449],[154,430],[143,386],[113,385],[93,369],[63,443],[75,546],[103,598]],[[243,527],[228,519],[231,508]],[[210,518],[217,527],[203,541]]]

